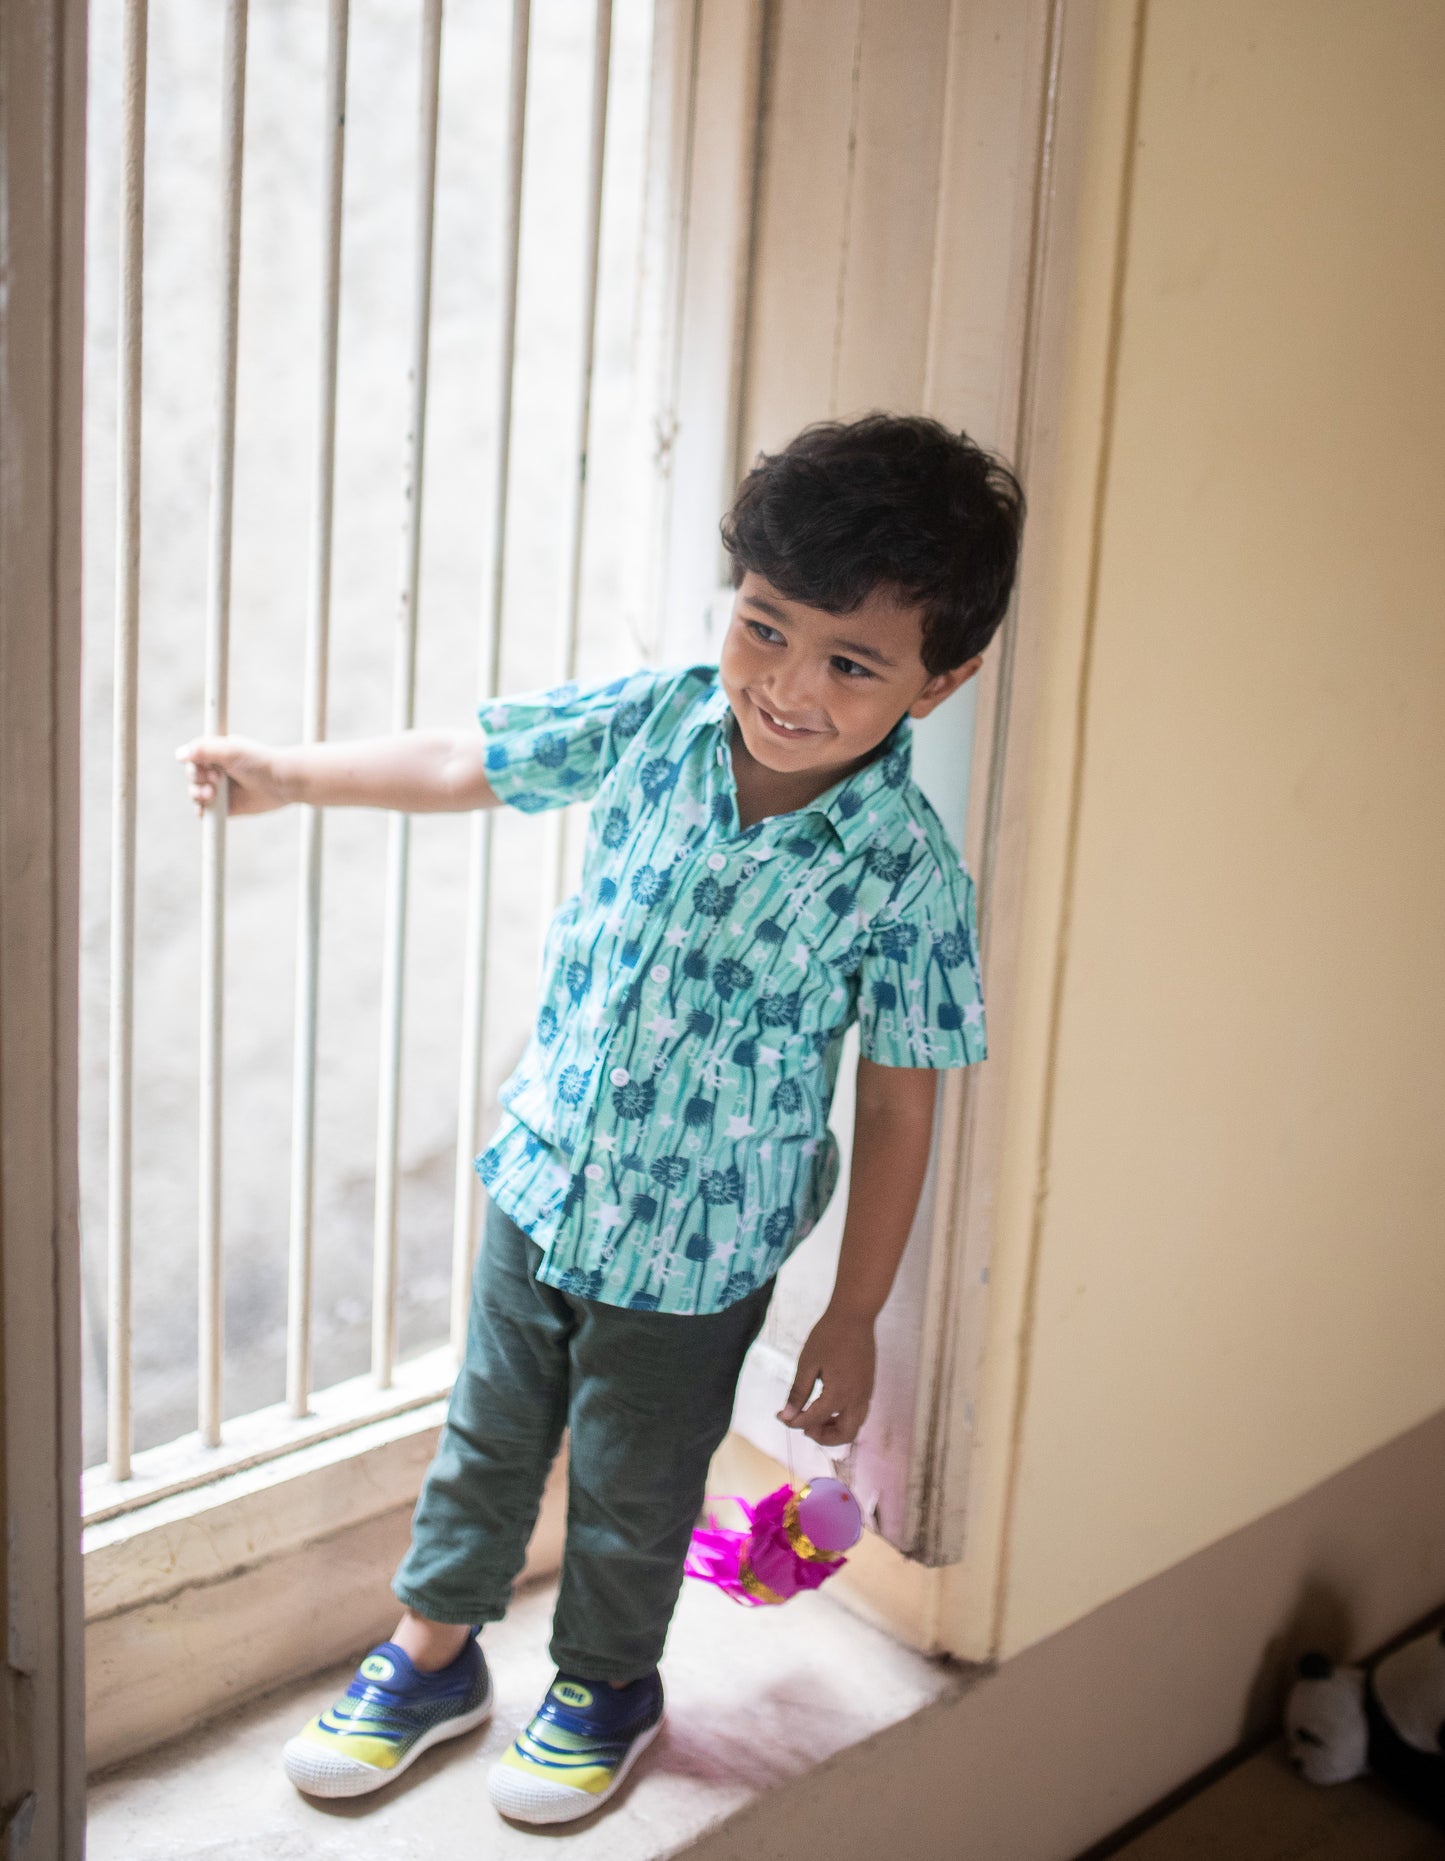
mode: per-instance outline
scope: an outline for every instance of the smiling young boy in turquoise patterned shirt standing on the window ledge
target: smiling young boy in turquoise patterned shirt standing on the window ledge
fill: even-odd
[[[838,1275],[780,1420],[853,1440],[912,1223],[935,1076],[983,1059],[972,882],[909,774],[911,718],[979,666],[1022,493],[933,421],[871,415],[763,456],[722,523],[719,666],[488,703],[480,731],[270,750],[197,739],[192,797],[527,813],[594,802],[536,1029],[477,1159],[490,1204],[466,1362],[393,1578],[402,1619],[285,1751],[318,1796],[486,1718],[477,1643],[570,1429],[553,1680],[492,1772],[523,1822],[603,1803],[655,1734],[657,1660],[708,1463],[773,1277],[838,1178]]]

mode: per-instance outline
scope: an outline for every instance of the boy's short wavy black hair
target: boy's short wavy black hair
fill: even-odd
[[[790,601],[851,614],[879,588],[922,609],[922,661],[981,653],[1009,605],[1024,493],[966,434],[920,415],[804,426],[760,452],[722,519],[732,584],[752,569]]]

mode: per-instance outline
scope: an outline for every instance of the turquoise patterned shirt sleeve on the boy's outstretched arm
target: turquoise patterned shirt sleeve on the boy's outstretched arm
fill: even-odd
[[[486,780],[510,808],[542,813],[590,800],[676,672],[644,668],[609,685],[555,685],[484,703]]]

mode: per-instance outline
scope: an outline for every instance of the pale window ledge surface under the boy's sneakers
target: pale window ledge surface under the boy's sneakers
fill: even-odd
[[[551,1587],[534,1589],[486,1630],[497,1684],[492,1723],[428,1751],[393,1788],[318,1803],[281,1774],[283,1742],[350,1679],[350,1667],[339,1667],[97,1779],[89,1861],[506,1857],[536,1855],[538,1839],[575,1844],[577,1861],[652,1861],[963,1684],[823,1595],[745,1612],[687,1584],[663,1666],[663,1733],[613,1803],[538,1835],[495,1814],[486,1766],[551,1679]]]

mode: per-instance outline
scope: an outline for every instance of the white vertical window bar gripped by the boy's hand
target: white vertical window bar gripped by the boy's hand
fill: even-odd
[[[246,134],[246,0],[229,0],[222,52],[222,329],[216,454],[210,476],[205,731],[225,735],[231,655],[231,515],[236,463],[240,326],[240,179]],[[222,1009],[225,962],[225,778],[201,823],[201,1444],[222,1439]]]

